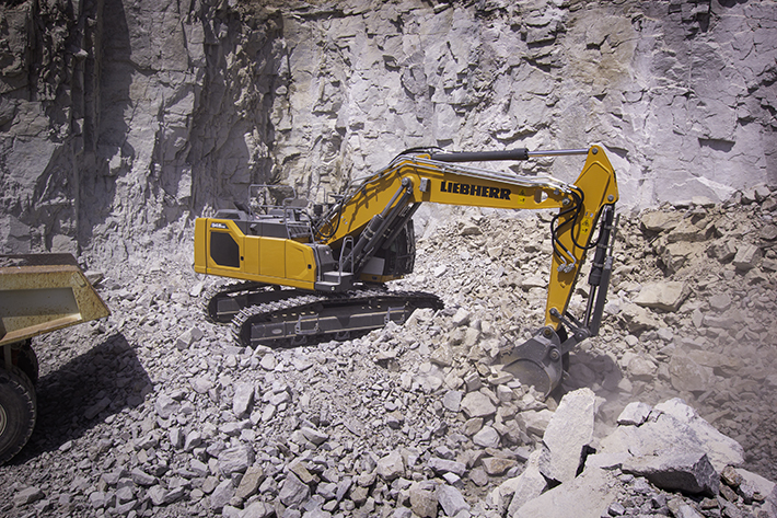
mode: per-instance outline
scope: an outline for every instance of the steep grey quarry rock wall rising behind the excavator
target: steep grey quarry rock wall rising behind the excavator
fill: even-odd
[[[285,182],[413,146],[602,142],[626,207],[777,185],[773,1],[26,0],[0,7],[0,252],[142,263]],[[573,180],[578,161],[553,165]]]

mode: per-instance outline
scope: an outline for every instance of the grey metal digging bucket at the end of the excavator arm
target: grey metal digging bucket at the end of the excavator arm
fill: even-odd
[[[523,344],[505,353],[499,360],[502,370],[510,372],[523,385],[531,387],[546,398],[561,382],[564,360],[561,339],[553,327],[543,327]]]

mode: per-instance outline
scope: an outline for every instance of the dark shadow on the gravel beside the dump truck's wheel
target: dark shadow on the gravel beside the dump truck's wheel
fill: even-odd
[[[121,334],[108,336],[37,383],[38,417],[14,463],[78,439],[111,415],[142,404],[151,380]]]

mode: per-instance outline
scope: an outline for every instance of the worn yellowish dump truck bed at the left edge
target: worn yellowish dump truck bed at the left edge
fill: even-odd
[[[72,255],[0,256],[0,346],[108,314]]]

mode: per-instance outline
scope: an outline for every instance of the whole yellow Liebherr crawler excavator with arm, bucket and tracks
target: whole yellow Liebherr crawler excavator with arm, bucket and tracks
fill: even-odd
[[[584,156],[569,184],[465,165],[471,162]],[[207,316],[232,322],[239,344],[298,345],[346,339],[402,324],[418,308],[442,308],[434,295],[386,283],[413,272],[413,215],[422,203],[500,209],[558,209],[544,326],[506,352],[506,370],[545,394],[560,382],[564,358],[596,335],[606,301],[615,237],[615,172],[603,148],[444,152],[415,148],[313,205],[280,186],[252,185],[248,205],[195,222],[195,272],[240,279],[207,295]],[[594,239],[594,234],[596,238]],[[585,313],[568,313],[588,250],[595,249]]]

